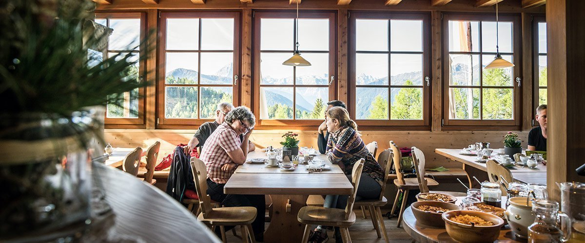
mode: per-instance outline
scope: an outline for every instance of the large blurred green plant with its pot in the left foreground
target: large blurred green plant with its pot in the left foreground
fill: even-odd
[[[98,110],[147,84],[132,53],[88,55],[111,33],[89,20],[94,9],[91,0],[0,3],[0,241],[80,237],[91,222],[88,145],[103,140]]]

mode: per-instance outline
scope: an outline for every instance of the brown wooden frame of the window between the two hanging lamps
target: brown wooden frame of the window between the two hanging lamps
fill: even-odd
[[[356,19],[387,19],[388,20],[388,119],[356,119]],[[392,87],[410,87],[410,86],[392,86],[390,83],[390,56],[391,54],[411,54],[412,51],[391,51],[390,40],[390,20],[422,20],[422,120],[412,119],[391,119],[391,93]],[[348,27],[348,47],[347,47],[347,77],[348,87],[348,104],[349,114],[354,119],[358,126],[372,128],[372,129],[411,129],[411,130],[425,130],[430,129],[431,126],[431,15],[426,12],[371,12],[371,11],[352,11],[349,17]],[[365,51],[364,51],[365,52]],[[386,52],[386,51],[383,51]],[[377,51],[368,51],[367,53],[378,53]],[[417,51],[417,54],[418,51]],[[425,78],[429,78],[429,82],[425,85]],[[419,86],[412,86],[417,89]]]

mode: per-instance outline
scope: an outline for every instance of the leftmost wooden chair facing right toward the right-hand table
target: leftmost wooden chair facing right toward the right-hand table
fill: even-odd
[[[402,213],[404,213],[404,209],[406,207],[406,201],[408,198],[408,192],[410,190],[416,190],[419,189],[419,183],[418,183],[418,178],[404,178],[404,168],[402,168],[402,153],[400,152],[400,149],[398,148],[398,146],[396,145],[396,143],[394,143],[394,141],[390,141],[390,149],[392,149],[392,153],[393,153],[393,163],[394,163],[394,168],[396,170],[396,177],[397,179],[394,179],[394,185],[396,186],[396,188],[398,188],[398,192],[396,193],[396,198],[394,198],[394,204],[392,205],[392,210],[390,211],[391,213],[394,213],[394,210],[396,210],[396,205],[398,203],[398,199],[400,199],[400,195],[402,195],[402,204],[400,206],[400,213],[398,214],[398,224],[396,227],[400,227],[400,224],[402,224]],[[424,178],[425,179],[425,185],[426,186],[438,186],[439,183],[436,182],[434,179],[431,178]]]

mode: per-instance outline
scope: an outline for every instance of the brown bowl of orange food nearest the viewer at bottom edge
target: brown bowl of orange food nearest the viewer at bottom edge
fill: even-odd
[[[450,220],[451,217],[460,214],[477,216],[483,220],[491,221],[494,225],[471,226]],[[470,210],[452,210],[443,213],[441,217],[445,220],[447,234],[459,242],[494,242],[500,236],[500,228],[504,225],[504,220],[494,214]]]

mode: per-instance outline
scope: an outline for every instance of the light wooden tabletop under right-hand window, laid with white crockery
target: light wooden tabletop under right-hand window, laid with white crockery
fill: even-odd
[[[451,160],[455,160],[463,164],[463,169],[468,170],[466,165],[487,172],[486,163],[476,162],[476,156],[468,156],[459,154],[461,149],[435,149],[435,153],[441,154]],[[514,176],[515,180],[524,183],[539,183],[546,185],[546,165],[538,164],[536,168],[531,169],[528,167],[512,167],[509,168]],[[469,171],[468,171],[469,172]],[[487,174],[486,174],[487,178]]]

